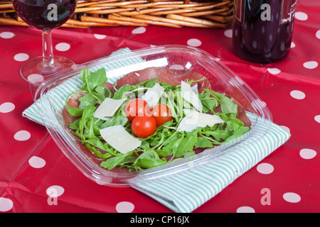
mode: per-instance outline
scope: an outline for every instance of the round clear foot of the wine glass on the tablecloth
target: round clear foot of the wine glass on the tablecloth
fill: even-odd
[[[45,64],[43,57],[34,57],[23,63],[20,74],[23,79],[31,84],[40,84],[50,74],[60,72],[75,65],[75,62],[65,57],[54,56],[53,64]]]

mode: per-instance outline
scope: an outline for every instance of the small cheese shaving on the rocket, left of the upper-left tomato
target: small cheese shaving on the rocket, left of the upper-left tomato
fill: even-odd
[[[126,100],[127,99],[106,98],[104,101],[102,101],[102,104],[100,104],[100,106],[95,110],[93,116],[95,118],[99,118],[106,121],[107,119],[109,119],[108,117],[114,115],[114,113],[119,109],[121,104]]]

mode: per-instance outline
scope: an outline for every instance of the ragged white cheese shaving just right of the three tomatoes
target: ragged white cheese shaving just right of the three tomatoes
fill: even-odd
[[[216,123],[224,123],[222,118],[217,115],[203,114],[192,109],[183,109],[186,116],[181,120],[177,131],[191,132],[196,128],[214,126]]]

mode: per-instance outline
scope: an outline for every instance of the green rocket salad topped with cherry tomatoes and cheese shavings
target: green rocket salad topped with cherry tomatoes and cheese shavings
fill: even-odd
[[[84,69],[80,79],[83,82],[80,91],[85,95],[79,99],[79,106],[68,105],[75,92],[65,101],[68,114],[78,118],[70,123],[70,129],[102,160],[100,166],[107,170],[119,166],[139,171],[175,162],[195,155],[197,148],[213,148],[250,130],[236,118],[238,105],[225,94],[209,89],[194,94],[183,91],[183,87],[191,87],[193,80],[174,86],[149,79],[135,85],[125,84],[119,89],[113,87],[110,91],[103,86],[107,82],[105,69],[96,72]],[[144,99],[149,89],[159,95],[159,99],[151,97],[151,102],[156,102],[152,106]],[[198,103],[200,110],[186,94],[196,95],[201,102]],[[98,111],[104,102],[109,106]],[[220,112],[215,111],[218,105]],[[141,106],[143,110],[139,112]],[[109,115],[98,114],[104,111]]]

